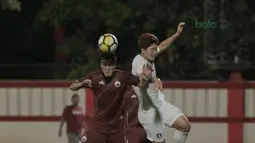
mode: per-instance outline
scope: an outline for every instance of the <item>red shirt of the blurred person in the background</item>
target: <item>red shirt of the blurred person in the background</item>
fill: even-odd
[[[80,133],[83,122],[83,110],[80,106],[66,106],[62,114],[66,121],[67,132]]]

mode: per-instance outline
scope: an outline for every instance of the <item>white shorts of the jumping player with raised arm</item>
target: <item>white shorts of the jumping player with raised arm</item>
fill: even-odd
[[[175,120],[183,115],[181,110],[166,101],[163,102],[159,111],[162,117],[162,122],[159,123],[154,121],[154,110],[151,112],[138,111],[138,119],[143,125],[147,138],[154,142],[163,142],[165,140],[165,126],[171,127]]]

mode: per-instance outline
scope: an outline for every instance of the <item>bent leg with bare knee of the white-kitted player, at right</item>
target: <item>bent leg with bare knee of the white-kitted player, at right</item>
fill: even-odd
[[[176,143],[185,143],[191,125],[184,114],[174,105],[164,102],[160,108],[165,125],[177,129],[174,134]]]

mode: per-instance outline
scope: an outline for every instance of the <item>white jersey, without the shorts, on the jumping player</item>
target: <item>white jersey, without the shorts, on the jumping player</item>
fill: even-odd
[[[139,76],[139,74],[142,73],[142,68],[144,64],[149,63],[144,57],[142,57],[141,55],[137,55],[132,63],[132,74],[135,76]],[[154,63],[149,63],[151,64],[151,66],[153,67],[153,72],[151,73],[151,77],[152,78],[156,78],[156,70],[155,70],[155,65]],[[136,95],[138,96],[138,99],[141,99],[141,92],[140,92],[140,88],[133,86],[133,89],[136,93]],[[160,90],[155,88],[155,84],[154,83],[150,83],[149,87],[147,89],[147,93],[150,96],[150,98],[152,99],[153,103],[155,104],[155,106],[157,108],[160,108],[163,104],[164,101],[164,94],[160,92]],[[141,105],[141,102],[140,102]],[[141,106],[140,106],[141,107]],[[140,108],[139,108],[140,109]]]

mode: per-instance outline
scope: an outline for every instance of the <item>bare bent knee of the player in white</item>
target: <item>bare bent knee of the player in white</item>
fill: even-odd
[[[189,120],[184,115],[177,118],[172,127],[183,132],[189,132],[191,129]]]

